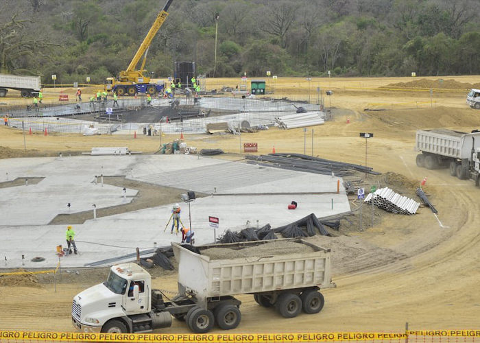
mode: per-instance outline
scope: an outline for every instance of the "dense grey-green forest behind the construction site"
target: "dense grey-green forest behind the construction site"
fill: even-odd
[[[101,84],[165,2],[3,1],[0,72]],[[175,61],[217,78],[480,74],[479,0],[173,0],[168,12],[147,56],[154,78]]]

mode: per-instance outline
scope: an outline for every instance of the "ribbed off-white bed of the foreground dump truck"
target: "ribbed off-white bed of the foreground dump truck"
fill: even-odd
[[[310,251],[283,254],[273,249],[279,241],[300,244]],[[269,251],[269,244],[272,251]],[[172,246],[178,261],[179,291],[192,292],[199,303],[204,303],[208,298],[235,294],[314,286],[335,287],[331,283],[331,251],[302,239],[197,246],[200,255],[177,243],[172,243]],[[265,249],[254,256],[243,254],[243,250],[256,246],[264,246]],[[206,250],[212,248],[227,249],[230,258],[213,259],[204,255]],[[285,252],[285,249],[282,250]]]

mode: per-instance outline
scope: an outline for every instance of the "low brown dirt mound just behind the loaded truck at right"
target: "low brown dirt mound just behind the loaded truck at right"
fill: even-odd
[[[368,113],[395,130],[426,128],[480,128],[480,116],[470,108],[419,108]]]

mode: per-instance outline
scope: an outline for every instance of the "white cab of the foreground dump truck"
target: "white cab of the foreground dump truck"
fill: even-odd
[[[75,296],[73,326],[84,332],[117,332],[118,328],[114,325],[112,329],[109,322],[128,327],[128,316],[151,311],[150,289],[151,276],[139,265],[113,266],[106,282]]]

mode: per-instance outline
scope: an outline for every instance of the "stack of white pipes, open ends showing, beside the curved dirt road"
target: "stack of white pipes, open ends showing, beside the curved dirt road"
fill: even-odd
[[[420,202],[400,196],[388,187],[377,189],[373,194],[374,205],[388,212],[413,215],[417,213],[418,206],[420,206]],[[372,193],[368,194],[364,202],[372,204]]]

